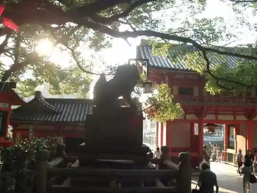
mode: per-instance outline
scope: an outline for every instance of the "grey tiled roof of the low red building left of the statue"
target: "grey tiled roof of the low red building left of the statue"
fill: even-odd
[[[45,98],[41,92],[12,111],[11,121],[84,122],[93,113],[91,99]]]

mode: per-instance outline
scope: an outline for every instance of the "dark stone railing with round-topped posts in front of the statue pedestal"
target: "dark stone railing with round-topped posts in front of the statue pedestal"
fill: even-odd
[[[95,169],[90,167],[78,167],[77,160],[70,168],[53,168],[47,162],[49,152],[41,150],[38,154],[37,170],[36,170],[36,193],[58,193],[58,192],[191,192],[191,178],[193,170],[190,166],[190,153],[179,154],[179,165],[176,165],[168,158],[169,148],[162,147],[161,159],[152,159],[153,164],[159,167],[147,167],[149,169]],[[150,165],[153,166],[150,163]],[[67,180],[62,185],[53,185],[48,179],[52,177],[62,176]],[[49,178],[50,177],[50,178]],[[68,179],[92,179],[95,178],[101,182],[102,178],[109,179],[109,186],[106,187],[87,187],[73,185]],[[123,187],[124,181],[137,179],[140,186]],[[154,186],[148,186],[144,183],[147,180],[155,180]]]

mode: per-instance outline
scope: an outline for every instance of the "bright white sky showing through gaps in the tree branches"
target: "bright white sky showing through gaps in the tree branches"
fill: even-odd
[[[197,1],[197,0],[196,0]],[[155,16],[162,16],[162,18],[165,20],[166,28],[169,28],[171,26],[179,26],[179,22],[173,22],[170,20],[170,14],[169,12],[175,11],[172,10],[165,10],[162,12],[155,12]],[[181,21],[184,21],[187,19],[188,10],[183,10],[182,13],[179,13]],[[253,17],[250,10],[244,11],[244,16],[248,17],[248,21],[250,23],[254,23],[254,20],[256,21],[256,16]],[[165,16],[166,15],[166,16]],[[231,7],[228,7],[225,3],[221,3],[220,0],[209,0],[206,10],[198,15],[198,18],[201,17],[207,17],[209,19],[213,19],[214,17],[222,16],[224,17],[224,20],[227,24],[235,24],[235,21],[237,20],[233,10]],[[120,30],[126,30],[125,26],[122,26]],[[243,33],[238,34],[238,40],[229,46],[234,46],[235,44],[240,43],[253,43],[257,39],[257,34],[252,34],[247,27],[240,27],[238,29],[233,28],[233,30],[242,31]],[[140,44],[141,38],[129,38],[128,42],[130,42],[131,46],[128,45],[123,39],[114,39],[112,40],[112,48],[106,48],[100,52],[94,52],[93,50],[89,50],[86,46],[81,47],[82,56],[85,60],[88,62],[91,62],[94,64],[93,71],[99,72],[103,71],[103,68],[105,65],[114,65],[114,64],[124,64],[128,59],[135,58],[136,57],[136,46]],[[58,49],[51,50],[49,47],[49,42],[42,41],[41,51],[43,50],[50,50],[52,53],[51,60],[54,63],[60,64],[63,67],[67,67],[70,65],[71,58],[69,55],[67,55],[65,52],[60,52]],[[219,42],[220,45],[225,45],[230,42]],[[95,55],[95,59],[91,58],[91,55]],[[8,61],[5,59],[3,61],[4,63],[11,63],[11,61]],[[29,77],[29,73],[25,75],[26,77]],[[95,81],[98,79],[98,76],[94,76],[94,81],[91,85],[91,87],[94,86]],[[91,91],[92,92],[92,91]],[[91,96],[91,94],[90,94]]]

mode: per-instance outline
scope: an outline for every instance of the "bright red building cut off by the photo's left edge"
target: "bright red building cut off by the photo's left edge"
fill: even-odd
[[[11,106],[25,104],[23,99],[12,90],[15,88],[16,82],[0,82],[0,147],[8,147],[13,144],[12,141],[7,138]]]

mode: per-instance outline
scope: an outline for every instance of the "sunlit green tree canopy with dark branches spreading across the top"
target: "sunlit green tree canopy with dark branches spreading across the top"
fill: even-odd
[[[19,33],[6,27],[0,28],[0,36],[4,37],[0,45],[2,56],[12,61],[7,67],[2,61],[2,81],[8,78],[19,80],[21,89],[26,91],[42,82],[48,82],[53,93],[85,93],[91,81],[90,74],[94,73],[90,73],[91,64],[81,55],[81,42],[100,50],[112,46],[112,38],[127,40],[149,37],[153,48],[158,48],[153,49],[156,54],[167,54],[167,50],[179,43],[179,46],[176,45],[180,50],[178,55],[180,53],[184,57],[186,65],[197,72],[208,74],[206,88],[211,93],[250,89],[257,84],[256,42],[240,45],[244,48],[236,49],[218,46],[218,42],[236,39],[236,33],[242,32],[240,26],[247,26],[256,32],[257,22],[249,22],[249,16],[244,16],[244,10],[250,10],[251,17],[256,16],[257,1],[220,2],[233,8],[237,18],[234,23],[227,24],[223,17],[199,17],[207,6],[207,0],[2,1],[5,5],[2,16],[9,17],[20,26]],[[158,15],[161,10],[168,10],[169,14]],[[185,20],[181,21],[180,14],[185,13]],[[179,25],[167,26],[164,17],[169,17],[171,23],[177,22]],[[232,30],[228,29],[228,25]],[[128,28],[121,31],[120,26]],[[237,32],[234,32],[233,27],[238,29]],[[39,56],[34,47],[36,40],[42,37],[50,39],[58,49],[67,51],[72,57],[71,65],[63,68],[50,61],[49,57]],[[159,44],[160,41],[163,43]],[[192,44],[195,50],[187,49],[186,44]],[[226,62],[210,65],[211,52],[237,57],[236,66],[231,68]],[[32,78],[21,79],[28,71],[33,75]]]

